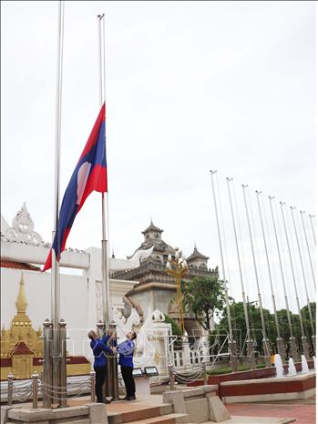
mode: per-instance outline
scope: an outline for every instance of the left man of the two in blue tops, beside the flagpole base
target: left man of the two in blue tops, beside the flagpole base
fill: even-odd
[[[94,370],[96,372],[95,390],[97,403],[105,403],[105,400],[103,399],[103,385],[106,379],[106,354],[113,354],[113,350],[108,348],[108,346],[98,338],[95,331],[90,330],[87,336],[91,340],[90,347],[94,354]]]

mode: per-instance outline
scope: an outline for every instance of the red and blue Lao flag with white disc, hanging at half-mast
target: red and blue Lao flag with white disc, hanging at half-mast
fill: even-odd
[[[87,144],[79,157],[77,167],[68,183],[59,211],[52,248],[57,260],[66,247],[67,237],[81,207],[92,191],[108,191],[106,145],[105,145],[105,103],[88,137]],[[43,271],[52,267],[52,250],[46,258]]]

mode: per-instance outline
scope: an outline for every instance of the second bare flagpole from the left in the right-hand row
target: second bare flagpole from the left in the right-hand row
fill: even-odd
[[[250,321],[249,321],[249,313],[248,313],[247,304],[246,304],[246,296],[245,296],[243,276],[242,276],[242,273],[241,273],[240,249],[239,249],[238,236],[237,236],[236,226],[235,226],[233,206],[232,206],[232,201],[231,201],[230,182],[233,180],[233,178],[227,177],[226,180],[228,182],[228,191],[229,191],[230,206],[231,206],[231,218],[232,218],[232,224],[233,224],[233,230],[234,230],[236,253],[237,253],[237,257],[238,257],[239,270],[240,270],[241,296],[243,298],[244,317],[245,317],[246,332],[247,332],[246,345],[247,345],[248,357],[249,357],[249,360],[250,360],[250,366],[251,366],[251,368],[256,368],[255,354],[254,354],[254,342],[251,339],[251,328],[250,328]]]

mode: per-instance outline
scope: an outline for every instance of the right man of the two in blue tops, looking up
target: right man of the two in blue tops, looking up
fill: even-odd
[[[137,338],[135,331],[129,331],[127,334],[127,339],[120,343],[117,347],[119,354],[118,364],[120,365],[121,375],[124,379],[126,387],[126,398],[125,400],[134,400],[136,399],[136,386],[135,381],[132,375],[134,369],[133,356],[135,343],[133,340]]]

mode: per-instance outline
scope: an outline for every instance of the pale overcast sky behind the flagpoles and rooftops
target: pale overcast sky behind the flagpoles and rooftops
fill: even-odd
[[[5,1],[1,14],[2,214],[11,224],[26,201],[46,241],[53,223],[57,8],[57,2]],[[271,306],[254,192],[263,192],[269,233],[269,195],[278,207],[281,200],[298,207],[297,217],[299,209],[314,214],[314,9],[314,2],[303,1],[66,2],[61,195],[97,117],[97,15],[105,12],[109,226],[116,257],[133,253],[152,217],[170,245],[190,255],[196,241],[210,268],[221,266],[209,173],[217,169],[232,294],[241,299],[226,177],[235,182],[254,299],[241,203],[241,184],[249,184],[265,306]],[[286,214],[290,218],[290,210]],[[68,247],[99,246],[100,216],[95,193],[77,216]],[[306,226],[312,248],[308,216]],[[274,245],[269,249],[283,307]],[[292,252],[304,302],[295,244]]]

